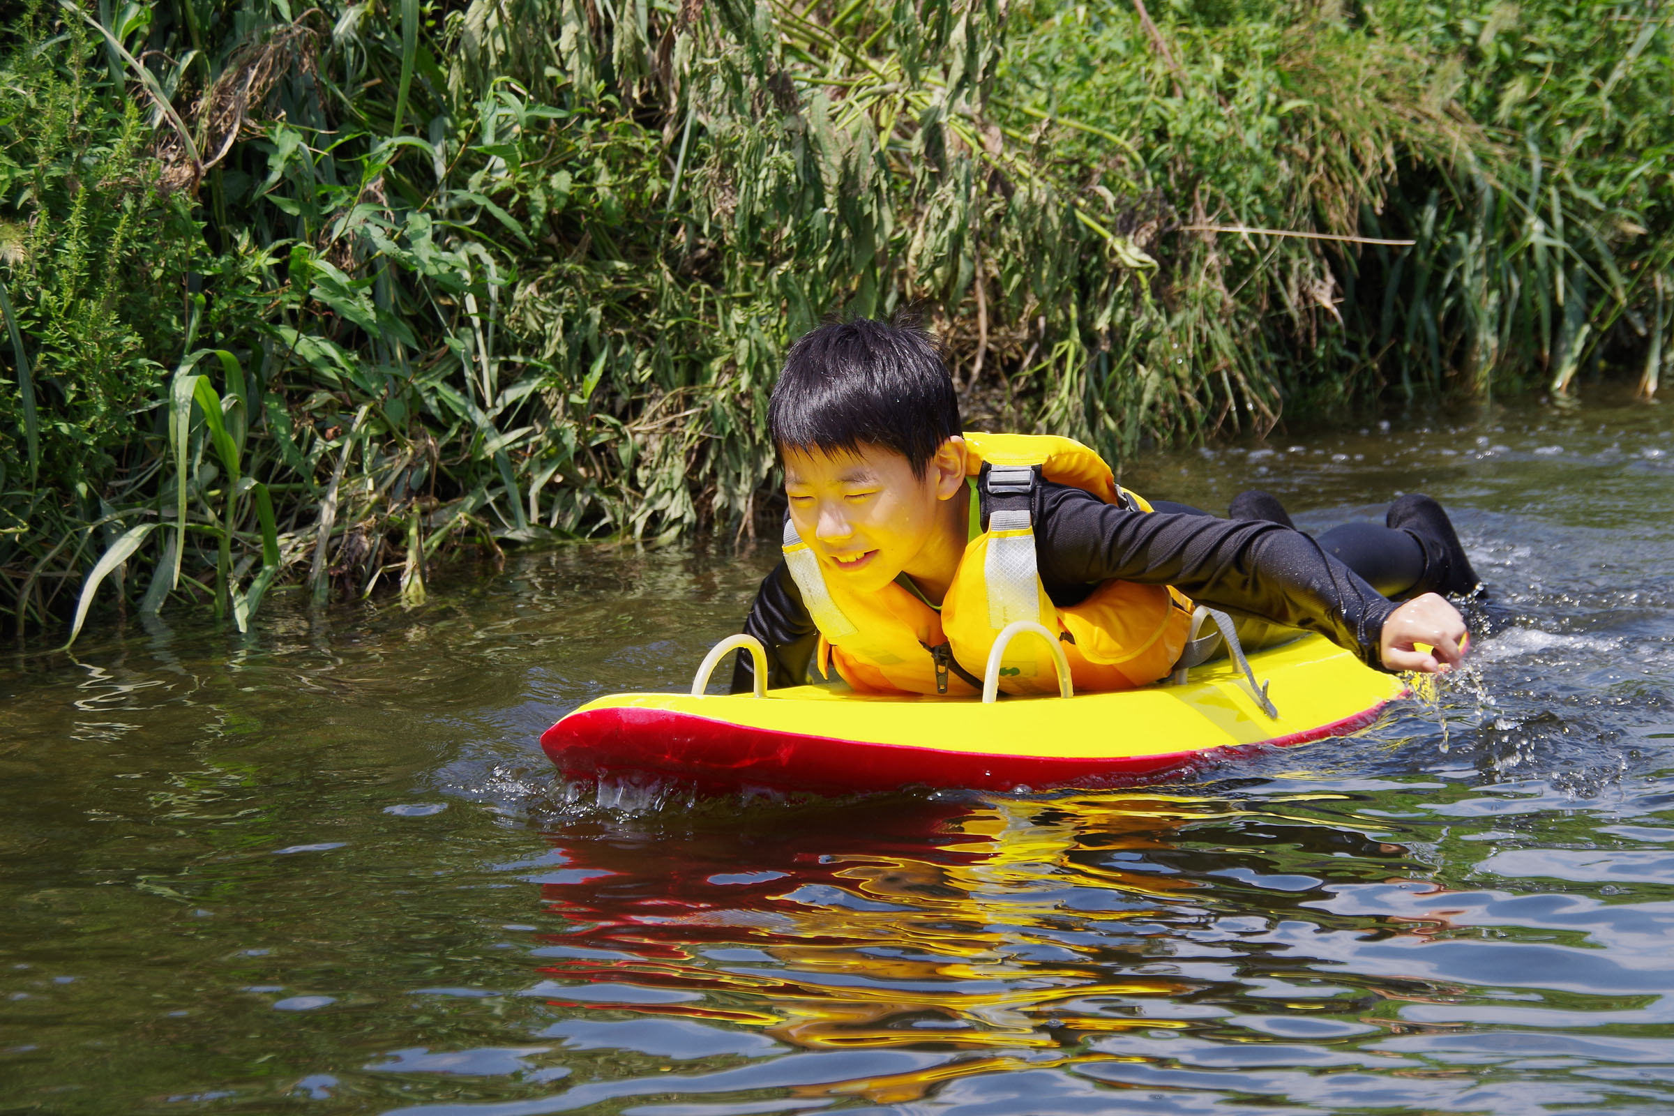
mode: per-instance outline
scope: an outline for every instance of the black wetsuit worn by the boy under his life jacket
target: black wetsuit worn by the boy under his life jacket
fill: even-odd
[[[1396,607],[1389,597],[1413,594],[1425,576],[1411,534],[1343,524],[1314,540],[1276,522],[1217,519],[1168,500],[1152,507],[1130,510],[1038,482],[1035,561],[1053,604],[1076,604],[1112,577],[1173,586],[1197,604],[1319,632],[1383,669],[1379,637]],[[819,631],[783,562],[762,582],[743,631],[767,648],[770,688],[805,681]],[[753,681],[750,656],[740,653],[733,693]]]

